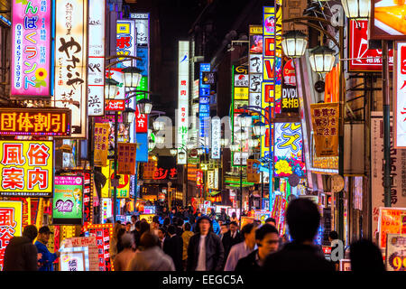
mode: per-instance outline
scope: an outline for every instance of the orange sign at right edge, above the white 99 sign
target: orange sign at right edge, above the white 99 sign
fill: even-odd
[[[386,247],[386,234],[401,234],[406,208],[379,208],[379,247]]]

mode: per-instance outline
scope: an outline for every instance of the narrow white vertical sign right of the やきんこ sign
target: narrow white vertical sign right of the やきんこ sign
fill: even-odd
[[[105,114],[106,0],[88,2],[88,116]]]

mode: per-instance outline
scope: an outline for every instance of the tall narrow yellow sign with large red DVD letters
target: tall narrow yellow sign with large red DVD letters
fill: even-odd
[[[276,18],[275,7],[263,7],[263,84],[262,84],[262,107],[266,109],[266,115],[274,117],[275,101],[275,31]],[[263,122],[267,124],[263,118]],[[261,156],[270,158],[269,144],[272,135],[272,124],[269,124],[265,135],[261,137]]]

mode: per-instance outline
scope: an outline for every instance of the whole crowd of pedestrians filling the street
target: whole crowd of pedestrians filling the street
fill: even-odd
[[[152,218],[115,222],[110,256],[115,271],[335,271],[314,239],[320,225],[317,206],[307,199],[292,200],[285,219],[291,235],[280,237],[275,219],[245,224],[240,228],[235,213],[224,210],[204,215],[199,210],[163,208]],[[51,271],[59,253],[46,247],[51,230],[35,226],[23,229],[5,249],[5,271]],[[330,239],[337,238],[335,232]],[[35,244],[33,240],[37,238]],[[350,247],[353,271],[384,271],[383,256],[373,242],[361,239]]]

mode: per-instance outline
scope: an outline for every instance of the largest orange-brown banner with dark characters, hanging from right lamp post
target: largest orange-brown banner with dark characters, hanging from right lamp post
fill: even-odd
[[[338,156],[338,103],[310,105],[316,156]]]

